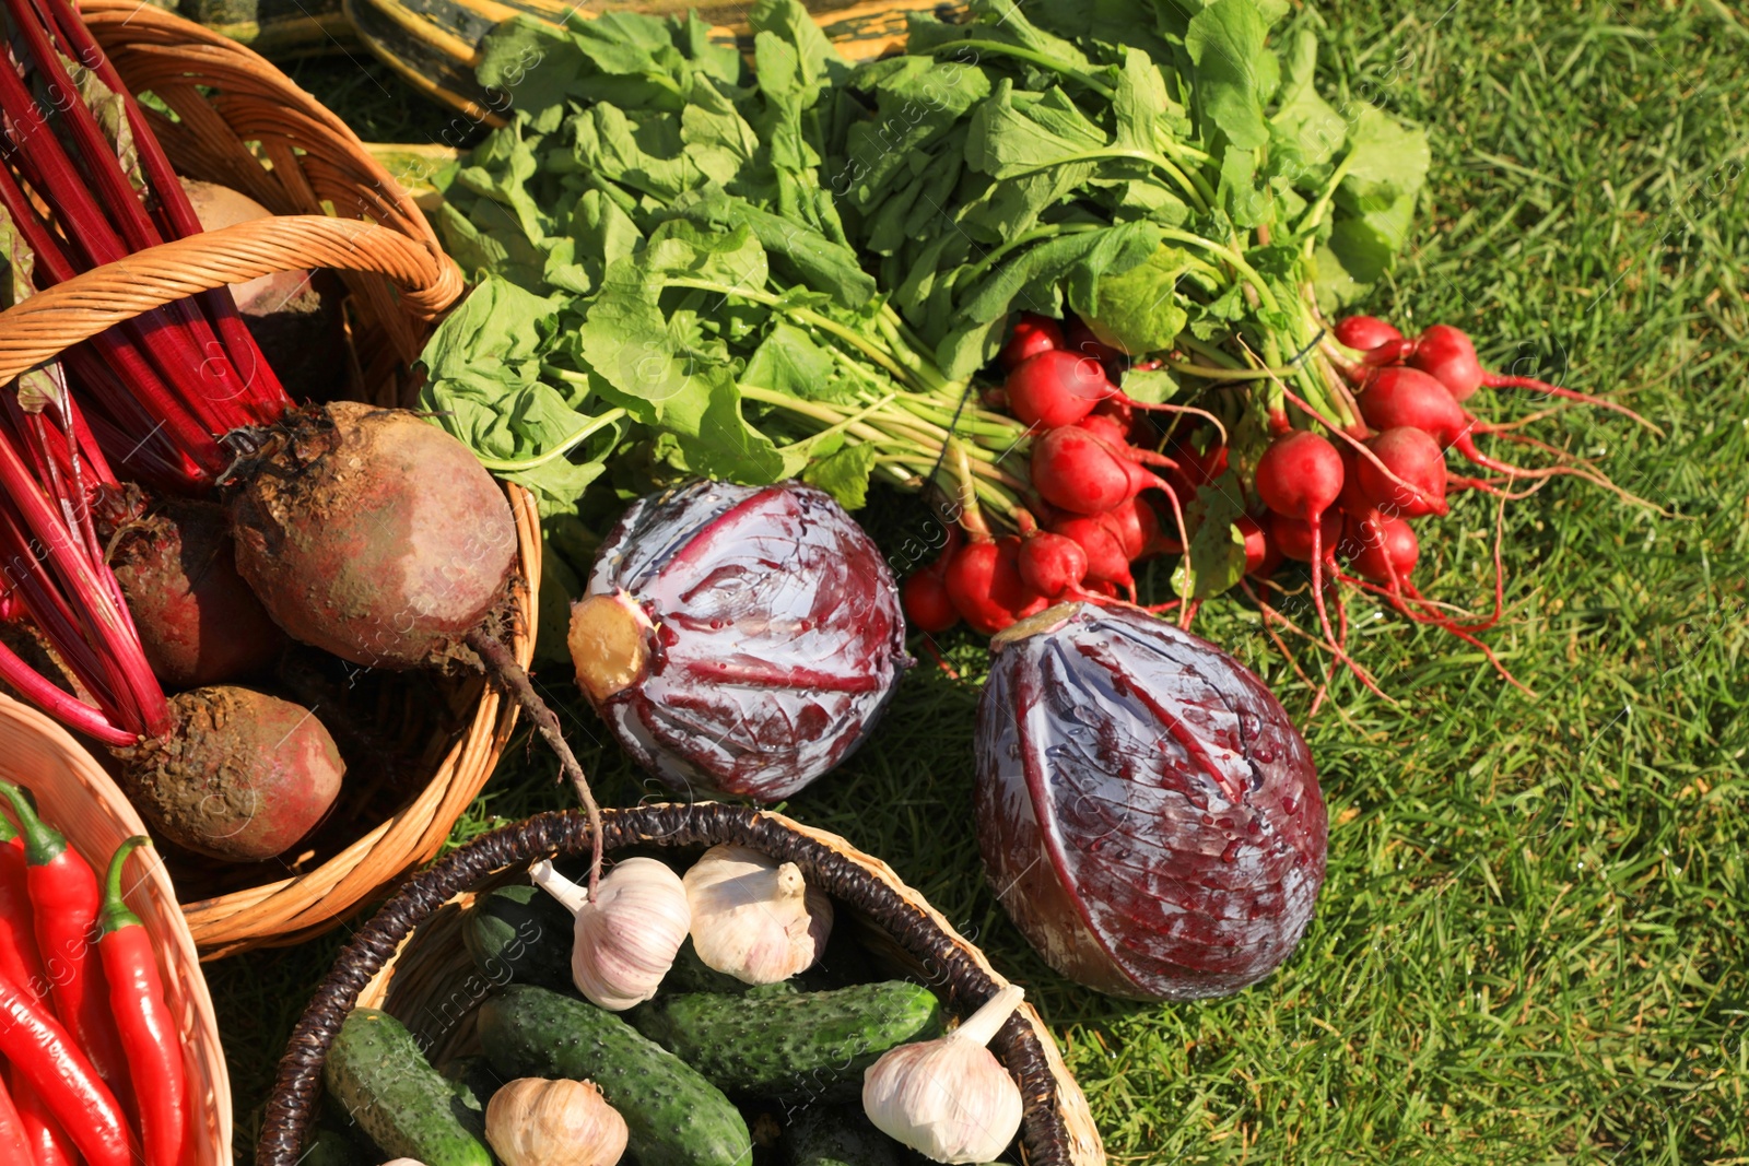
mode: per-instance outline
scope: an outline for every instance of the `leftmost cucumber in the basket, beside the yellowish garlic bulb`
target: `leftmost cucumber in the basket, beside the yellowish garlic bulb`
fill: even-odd
[[[406,1026],[376,1009],[353,1009],[334,1037],[322,1080],[376,1149],[425,1166],[491,1166],[486,1143],[463,1122],[465,1107],[430,1066]]]

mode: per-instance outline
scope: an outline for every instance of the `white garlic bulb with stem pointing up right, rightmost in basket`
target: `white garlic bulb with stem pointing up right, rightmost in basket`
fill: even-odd
[[[899,1045],[862,1073],[876,1129],[936,1163],[988,1163],[1020,1133],[1020,1086],[985,1045],[1025,993],[1009,984],[937,1040]]]

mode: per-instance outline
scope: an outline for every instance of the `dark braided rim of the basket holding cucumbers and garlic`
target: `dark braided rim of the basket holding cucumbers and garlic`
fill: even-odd
[[[768,809],[722,802],[659,802],[603,809],[607,848],[633,844],[750,844],[801,865],[808,881],[868,914],[925,968],[950,1005],[971,1010],[1007,981],[892,869],[836,834]],[[591,850],[581,811],[551,811],[500,827],[451,851],[401,886],[336,958],[299,1019],[268,1098],[257,1166],[294,1166],[320,1091],[322,1061],[360,993],[401,958],[418,925],[458,895],[518,864]],[[1027,1121],[1021,1147],[1030,1166],[1104,1166],[1105,1152],[1086,1098],[1028,1003],[992,1049],[1021,1077]],[[1016,1068],[1018,1066],[1018,1068]]]

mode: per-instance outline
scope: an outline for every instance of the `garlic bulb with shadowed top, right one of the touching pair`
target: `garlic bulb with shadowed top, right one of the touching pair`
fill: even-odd
[[[707,967],[775,984],[813,967],[833,932],[833,900],[801,867],[747,846],[712,846],[686,872],[693,947]]]

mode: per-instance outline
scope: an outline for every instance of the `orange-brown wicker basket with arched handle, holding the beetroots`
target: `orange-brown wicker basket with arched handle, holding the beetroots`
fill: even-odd
[[[411,404],[408,367],[430,320],[460,295],[462,278],[388,171],[334,114],[248,49],[131,0],[87,0],[82,12],[128,86],[175,112],[149,117],[177,170],[243,191],[280,217],[129,255],[0,313],[0,385],[157,304],[275,271],[332,267],[352,294],[359,395]],[[511,647],[526,666],[540,586],[539,516],[525,491],[511,486],[509,495],[521,556]],[[420,792],[367,806],[374,829],[331,841],[310,857],[318,865],[229,872],[248,885],[185,906],[208,958],[327,930],[437,853],[516,722],[516,708],[479,680],[441,692],[446,706],[432,715],[448,720],[442,732],[427,732],[436,745]]]

